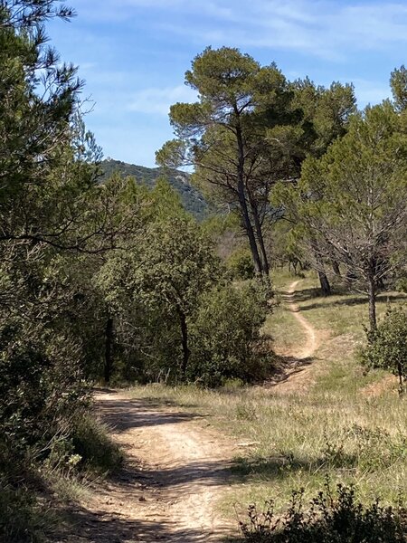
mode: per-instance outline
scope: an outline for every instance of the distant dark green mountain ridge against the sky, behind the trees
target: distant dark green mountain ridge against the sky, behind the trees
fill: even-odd
[[[164,175],[169,184],[180,195],[186,211],[193,214],[198,220],[204,219],[206,214],[208,214],[208,205],[204,200],[204,196],[197,188],[191,185],[190,176],[185,172],[176,169],[164,171],[160,167],[136,166],[135,164],[128,164],[127,162],[111,158],[103,160],[100,163],[100,167],[103,171],[103,177],[109,177],[118,172],[123,176],[133,176],[138,183],[147,185],[150,188],[155,186],[156,179],[159,176]]]

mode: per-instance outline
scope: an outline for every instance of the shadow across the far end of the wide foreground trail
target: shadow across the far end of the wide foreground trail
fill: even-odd
[[[147,405],[146,405],[147,403]],[[157,426],[160,424],[175,424],[199,418],[201,415],[193,413],[166,413],[149,412],[148,408],[161,407],[169,405],[169,402],[163,403],[147,402],[146,400],[134,399],[103,399],[97,402],[100,419],[109,424],[115,432],[126,432],[130,428],[140,428],[142,426]],[[171,403],[170,405],[175,405]]]

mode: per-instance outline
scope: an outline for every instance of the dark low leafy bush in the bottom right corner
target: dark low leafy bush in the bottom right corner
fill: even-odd
[[[353,487],[338,484],[331,491],[329,482],[304,510],[304,491],[294,491],[284,516],[274,512],[273,501],[259,512],[249,508],[249,520],[241,522],[248,543],[405,543],[407,510],[380,505],[375,500],[364,506]]]

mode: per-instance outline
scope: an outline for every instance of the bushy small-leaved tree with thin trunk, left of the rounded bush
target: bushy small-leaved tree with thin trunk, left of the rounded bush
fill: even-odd
[[[137,245],[112,253],[95,277],[116,322],[122,377],[130,380],[185,373],[189,325],[221,273],[212,243],[172,195],[167,184],[148,194]]]

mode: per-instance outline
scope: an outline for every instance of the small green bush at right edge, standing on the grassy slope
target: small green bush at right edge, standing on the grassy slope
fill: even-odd
[[[398,376],[402,394],[407,378],[407,310],[387,310],[377,329],[368,333],[368,344],[359,356],[364,367],[383,367]]]

